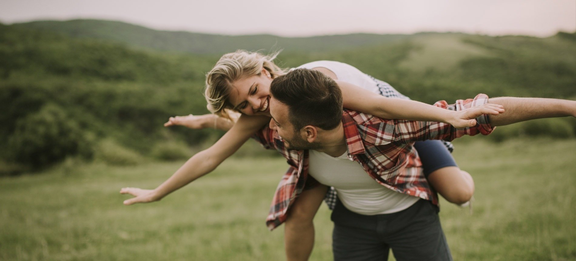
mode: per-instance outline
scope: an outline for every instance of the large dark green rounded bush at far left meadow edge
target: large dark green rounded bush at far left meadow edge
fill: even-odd
[[[18,120],[7,147],[14,161],[33,168],[46,167],[75,154],[92,157],[84,132],[54,104],[44,105],[40,111]]]

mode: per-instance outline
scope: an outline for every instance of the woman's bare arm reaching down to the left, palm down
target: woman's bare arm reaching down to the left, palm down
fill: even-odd
[[[120,194],[130,194],[134,198],[124,201],[124,205],[159,201],[171,192],[213,171],[226,158],[230,157],[244,142],[262,126],[270,122],[266,116],[244,116],[224,134],[214,145],[196,153],[186,161],[168,180],[154,190],[122,188]]]

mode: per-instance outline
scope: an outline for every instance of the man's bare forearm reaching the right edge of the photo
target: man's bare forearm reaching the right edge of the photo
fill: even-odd
[[[576,101],[570,100],[497,97],[488,99],[488,103],[503,105],[506,109],[503,114],[488,116],[494,127],[541,118],[576,117]]]

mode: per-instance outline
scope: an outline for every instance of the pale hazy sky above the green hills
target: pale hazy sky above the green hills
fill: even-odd
[[[94,18],[225,35],[576,31],[576,0],[1,0],[0,22]]]

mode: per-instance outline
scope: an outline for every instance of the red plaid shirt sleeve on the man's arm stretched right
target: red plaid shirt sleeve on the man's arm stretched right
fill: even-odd
[[[475,106],[480,106],[488,102],[486,94],[478,94],[474,99],[457,100],[454,104],[446,101],[438,101],[436,107],[461,111]],[[464,135],[490,134],[495,127],[490,126],[488,116],[482,115],[476,118],[478,124],[474,127],[456,129],[448,123],[441,122],[416,122],[412,120],[388,120],[376,117],[365,119],[365,124],[361,128],[365,132],[365,141],[373,145],[386,145],[392,142],[414,142],[426,139],[453,139]]]

